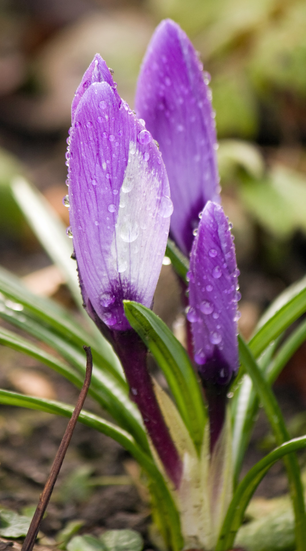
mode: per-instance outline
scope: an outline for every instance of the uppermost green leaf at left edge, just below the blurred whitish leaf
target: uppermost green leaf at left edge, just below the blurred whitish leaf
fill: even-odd
[[[68,310],[53,300],[34,295],[14,274],[3,268],[0,268],[0,293],[3,293],[8,299],[22,304],[37,320],[44,322],[52,328],[52,331],[62,335],[65,341],[73,343],[79,349],[82,349],[83,344],[89,345],[92,348],[93,358],[104,369],[108,369],[113,372],[114,376],[122,379],[122,371],[118,370],[117,356],[109,343],[102,335],[99,342],[94,339],[83,327],[80,327]],[[5,300],[4,305],[6,305]],[[14,313],[12,308],[1,308],[0,316],[3,317],[6,311],[9,311],[11,315]]]

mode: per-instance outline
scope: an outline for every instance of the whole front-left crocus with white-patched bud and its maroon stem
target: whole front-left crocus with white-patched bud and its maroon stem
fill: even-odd
[[[175,487],[181,460],[154,395],[147,350],[124,299],[151,307],[173,204],[151,134],[122,101],[96,55],[72,104],[68,154],[70,223],[84,305],[119,355],[144,425]]]

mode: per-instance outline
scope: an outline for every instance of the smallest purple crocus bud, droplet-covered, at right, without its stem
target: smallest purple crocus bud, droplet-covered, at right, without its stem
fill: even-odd
[[[203,381],[227,385],[237,372],[238,275],[223,209],[208,201],[192,245],[189,309],[195,361]]]

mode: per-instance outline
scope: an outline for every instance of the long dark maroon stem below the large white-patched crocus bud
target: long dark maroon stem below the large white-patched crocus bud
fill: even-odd
[[[147,370],[147,349],[133,329],[111,333],[112,343],[119,355],[130,387],[130,398],[141,412],[148,435],[168,477],[175,488],[178,488],[182,463],[154,394],[152,380]]]

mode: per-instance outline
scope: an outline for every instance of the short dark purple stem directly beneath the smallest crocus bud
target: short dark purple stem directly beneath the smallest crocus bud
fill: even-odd
[[[212,453],[218,437],[220,436],[226,416],[228,386],[208,385],[206,381],[203,381],[203,386],[205,387],[205,395],[208,403],[211,437],[210,444]]]

